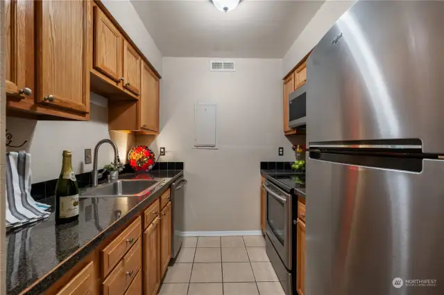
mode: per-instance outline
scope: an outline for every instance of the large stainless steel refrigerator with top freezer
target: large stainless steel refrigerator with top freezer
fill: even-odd
[[[444,1],[358,1],[307,83],[305,295],[444,294]]]

